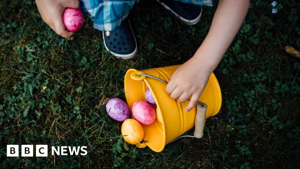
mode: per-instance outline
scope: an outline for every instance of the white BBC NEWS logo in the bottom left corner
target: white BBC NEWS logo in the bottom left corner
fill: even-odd
[[[52,155],[86,155],[86,146],[51,146]],[[33,145],[21,145],[21,157],[33,157]],[[35,146],[36,157],[48,157],[48,145],[36,145]],[[19,145],[7,145],[7,157],[19,157]]]

